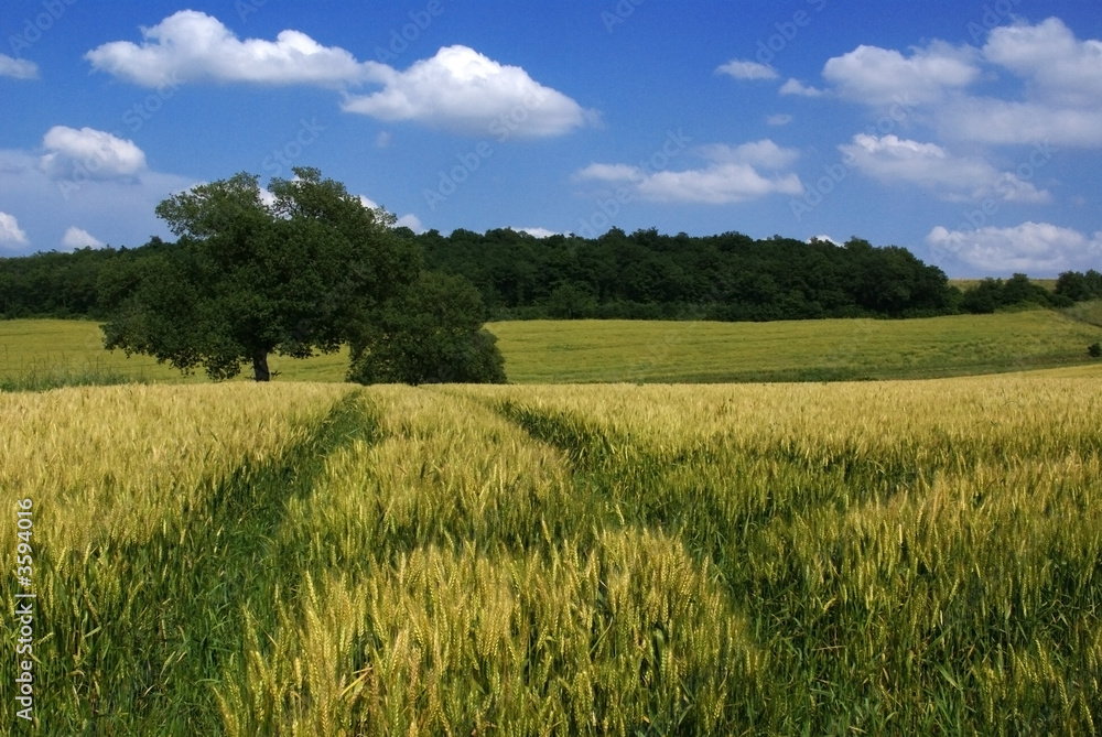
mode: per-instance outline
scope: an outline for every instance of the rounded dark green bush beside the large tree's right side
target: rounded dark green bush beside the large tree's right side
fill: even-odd
[[[504,383],[497,338],[483,328],[478,291],[462,277],[423,272],[352,342],[359,383]]]

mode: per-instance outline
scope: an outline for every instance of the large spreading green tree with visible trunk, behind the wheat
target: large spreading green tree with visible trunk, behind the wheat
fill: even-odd
[[[417,280],[420,251],[343,184],[294,173],[272,180],[269,198],[241,173],[162,202],[180,241],[101,278],[105,345],[214,379],[251,364],[268,381],[269,355],[333,353],[360,335]]]

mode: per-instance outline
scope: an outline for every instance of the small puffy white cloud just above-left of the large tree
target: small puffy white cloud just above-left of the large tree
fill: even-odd
[[[54,126],[42,139],[46,150],[39,166],[53,180],[132,177],[145,169],[145,154],[126,141],[94,128]]]

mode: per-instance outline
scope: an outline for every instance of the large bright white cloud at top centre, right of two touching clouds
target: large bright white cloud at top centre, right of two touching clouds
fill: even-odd
[[[591,122],[595,113],[560,91],[467,46],[447,46],[404,72],[377,65],[370,95],[348,95],[343,109],[380,120],[415,120],[464,134],[539,138]]]

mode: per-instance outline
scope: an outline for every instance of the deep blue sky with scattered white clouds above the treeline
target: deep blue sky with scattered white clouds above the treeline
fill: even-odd
[[[1102,269],[1093,0],[8,0],[0,254],[316,166],[415,230],[739,231]]]

